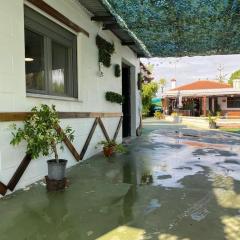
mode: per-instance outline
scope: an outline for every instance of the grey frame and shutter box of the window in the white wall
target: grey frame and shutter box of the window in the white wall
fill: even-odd
[[[77,36],[27,6],[24,6],[24,21],[26,30],[37,33],[44,38],[45,90],[26,89],[27,93],[78,98]],[[68,71],[65,94],[51,91],[53,42],[67,48]]]

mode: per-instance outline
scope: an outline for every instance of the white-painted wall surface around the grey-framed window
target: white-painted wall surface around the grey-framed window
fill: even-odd
[[[89,32],[88,38],[82,33],[77,36],[78,45],[78,99],[57,100],[26,96],[25,61],[24,61],[24,1],[0,0],[0,112],[29,111],[34,105],[41,103],[55,104],[58,111],[74,112],[121,112],[118,104],[105,100],[106,91],[121,93],[121,77],[114,76],[113,66],[104,68],[104,77],[98,76],[98,49],[95,37],[99,33],[106,40],[114,42],[115,53],[112,64],[120,64],[122,60],[131,64],[132,77],[132,134],[135,134],[137,122],[136,85],[139,72],[139,60],[128,47],[121,45],[118,38],[110,31],[102,31],[100,24],[92,22],[88,13],[75,0],[45,0],[67,18]],[[31,6],[28,4],[28,6]],[[33,9],[38,10],[33,7]],[[39,10],[38,10],[39,11]],[[39,11],[41,13],[41,11]],[[44,14],[46,15],[46,14]],[[51,18],[50,18],[51,19]],[[61,24],[60,24],[61,25]],[[64,25],[62,25],[64,26]],[[69,119],[62,121],[61,125],[70,125],[75,130],[74,146],[81,150],[94,119]],[[113,136],[119,118],[103,119],[106,129]],[[0,122],[0,181],[7,184],[25,155],[25,146],[13,147],[9,144],[11,133],[8,129],[10,122]],[[19,123],[21,124],[21,123]],[[103,139],[99,127],[95,132],[85,159],[96,153],[97,142]],[[118,140],[121,140],[121,131]],[[65,150],[62,158],[69,160],[68,167],[76,164],[75,159]],[[41,179],[47,173],[46,160],[34,160],[24,173],[17,185],[17,189]]]

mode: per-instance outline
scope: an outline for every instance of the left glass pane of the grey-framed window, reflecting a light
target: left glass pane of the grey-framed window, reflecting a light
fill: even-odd
[[[44,38],[25,29],[25,68],[27,89],[45,90]]]

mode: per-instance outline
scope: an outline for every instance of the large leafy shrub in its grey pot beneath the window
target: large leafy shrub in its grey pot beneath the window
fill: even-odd
[[[67,137],[74,139],[74,131],[71,127],[61,130],[60,120],[55,106],[42,104],[39,108],[33,107],[31,114],[24,121],[22,128],[13,127],[12,145],[18,145],[21,141],[27,142],[26,153],[33,159],[40,155],[49,156],[54,154],[54,159],[48,160],[48,178],[50,180],[62,180],[65,178],[67,160],[59,159],[58,145],[63,150],[63,140]]]

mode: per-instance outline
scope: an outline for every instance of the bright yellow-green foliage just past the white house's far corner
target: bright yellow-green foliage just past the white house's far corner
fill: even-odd
[[[142,104],[143,113],[148,114],[151,107],[151,100],[158,91],[158,84],[156,82],[150,82],[143,84],[142,86]]]

